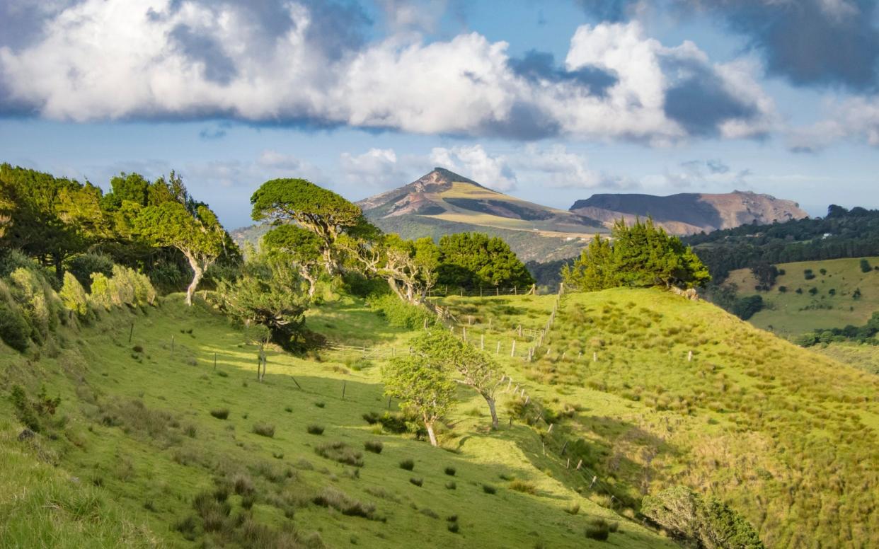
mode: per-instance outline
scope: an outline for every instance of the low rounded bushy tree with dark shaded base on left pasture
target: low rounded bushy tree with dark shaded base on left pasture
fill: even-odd
[[[289,264],[271,256],[246,262],[234,282],[221,280],[216,295],[223,313],[245,327],[265,327],[263,341],[291,349],[303,335],[308,299]]]

